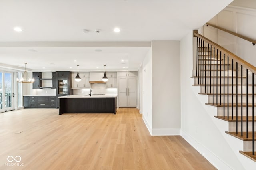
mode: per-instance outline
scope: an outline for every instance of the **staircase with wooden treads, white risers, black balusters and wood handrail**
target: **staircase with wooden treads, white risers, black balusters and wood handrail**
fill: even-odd
[[[256,162],[256,67],[197,32],[194,36],[197,50],[193,86],[200,86],[199,95],[207,95],[206,105],[216,107],[214,117],[228,123],[226,135],[243,142],[240,154]]]

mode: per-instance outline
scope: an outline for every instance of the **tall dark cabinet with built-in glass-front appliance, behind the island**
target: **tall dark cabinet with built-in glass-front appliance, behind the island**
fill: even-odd
[[[73,95],[71,79],[70,71],[56,71],[56,107],[59,107],[59,96]]]

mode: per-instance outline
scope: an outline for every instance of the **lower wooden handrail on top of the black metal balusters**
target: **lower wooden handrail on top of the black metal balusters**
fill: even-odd
[[[246,67],[246,69],[248,69],[252,73],[256,74],[256,67],[254,67],[253,65],[251,65],[247,61],[244,61],[243,59],[241,59],[240,57],[238,57],[234,53],[228,51],[227,49],[223,48],[222,46],[218,45],[217,43],[212,42],[211,40],[202,36],[201,34],[198,34],[198,33],[194,32],[194,35],[201,38],[202,40],[204,40],[208,44],[212,45],[213,47],[217,48],[218,51],[221,51],[222,53],[228,55],[228,57],[232,58],[234,60],[234,62],[237,62],[237,63],[241,64],[243,67]]]

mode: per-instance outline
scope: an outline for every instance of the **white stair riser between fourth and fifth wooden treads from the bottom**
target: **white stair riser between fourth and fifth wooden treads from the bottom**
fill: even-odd
[[[218,99],[218,103],[220,103],[220,99],[221,99],[221,103],[225,102],[225,103],[231,103],[232,102],[232,95],[215,95],[214,96],[214,103],[217,102]],[[241,95],[237,96],[238,99],[238,103],[241,103]],[[243,103],[246,103],[246,95],[243,95],[242,97],[243,99]],[[256,103],[256,96],[254,95],[254,102]],[[213,103],[213,95],[208,95],[208,103]],[[233,95],[233,103],[236,103],[236,95]],[[252,103],[252,95],[248,95],[248,103]]]

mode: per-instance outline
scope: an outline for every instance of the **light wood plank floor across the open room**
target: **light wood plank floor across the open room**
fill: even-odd
[[[23,166],[5,165],[8,156],[17,155]],[[116,115],[58,115],[58,109],[0,113],[0,169],[215,168],[181,136],[150,136],[137,109],[120,108]]]

